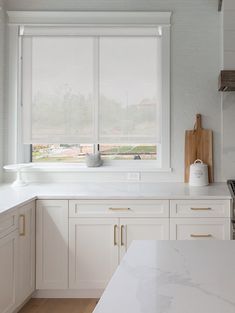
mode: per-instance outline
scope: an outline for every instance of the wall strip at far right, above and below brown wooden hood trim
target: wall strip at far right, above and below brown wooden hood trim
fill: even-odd
[[[224,69],[235,70],[235,1],[224,0]],[[223,173],[235,178],[235,92],[223,93]]]

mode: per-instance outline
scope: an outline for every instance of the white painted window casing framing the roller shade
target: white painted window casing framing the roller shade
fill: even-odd
[[[13,152],[11,163],[30,162],[30,148],[22,144],[21,132],[21,42],[19,31],[22,26],[55,26],[71,28],[81,27],[130,27],[130,28],[158,28],[162,33],[162,118],[161,146],[158,161],[112,161],[107,165],[117,168],[136,170],[150,170],[168,172],[170,167],[170,20],[171,12],[25,12],[8,11],[8,48],[9,48],[9,77],[8,87],[9,116],[13,117],[16,125],[9,128],[8,151]],[[159,148],[159,147],[158,147]],[[10,160],[9,160],[10,162]],[[41,165],[42,166],[42,165]],[[58,164],[58,167],[61,165]],[[65,164],[62,165],[63,168]],[[79,164],[75,164],[79,167]],[[69,166],[71,168],[71,165]],[[48,168],[48,166],[47,166]],[[53,165],[55,168],[55,165]],[[112,170],[112,168],[110,168]]]

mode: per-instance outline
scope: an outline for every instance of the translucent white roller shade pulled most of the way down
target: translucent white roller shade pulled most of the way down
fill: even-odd
[[[135,35],[84,30],[21,30],[24,143],[160,142],[158,28],[138,36],[136,28]]]

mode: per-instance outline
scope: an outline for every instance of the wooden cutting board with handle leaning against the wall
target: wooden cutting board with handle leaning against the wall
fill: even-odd
[[[185,131],[185,177],[189,181],[189,167],[200,159],[208,165],[209,182],[214,181],[213,173],[213,132],[211,129],[203,129],[201,114],[196,115],[196,123],[193,130]]]

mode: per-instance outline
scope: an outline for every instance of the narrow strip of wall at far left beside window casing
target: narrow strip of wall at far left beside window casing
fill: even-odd
[[[3,1],[0,0],[0,182],[2,181],[2,165],[3,165],[3,82],[4,82],[4,8]]]

